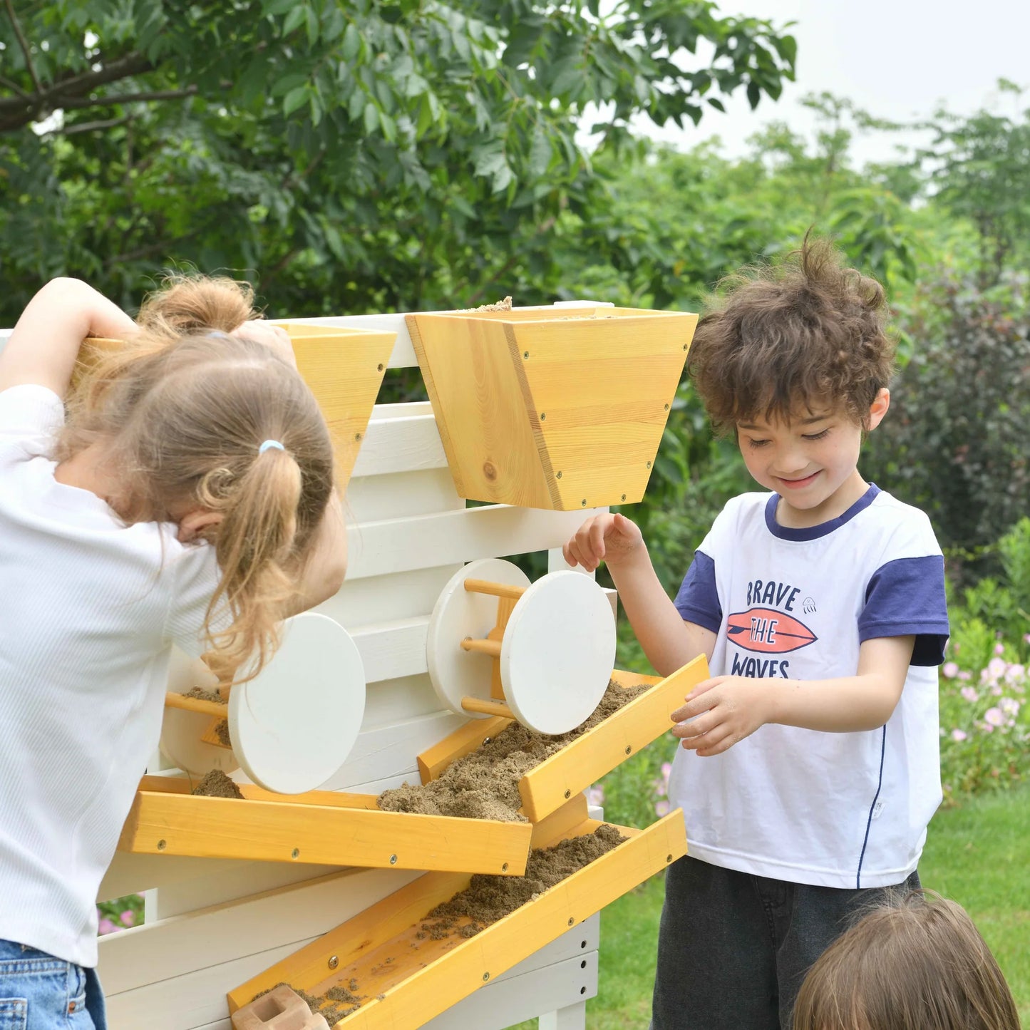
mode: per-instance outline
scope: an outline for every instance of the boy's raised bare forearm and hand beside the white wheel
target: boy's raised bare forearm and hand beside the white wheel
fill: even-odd
[[[623,515],[587,519],[562,548],[571,565],[593,572],[605,561],[623,611],[659,676],[671,676],[699,654],[712,657],[716,634],[687,622],[665,593],[638,526]]]

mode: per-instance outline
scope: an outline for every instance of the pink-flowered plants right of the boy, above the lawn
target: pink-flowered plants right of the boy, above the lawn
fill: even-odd
[[[958,637],[958,634],[957,634]],[[1020,647],[996,642],[983,668],[965,664],[953,640],[940,668],[940,778],[946,800],[1008,787],[1030,776],[1030,671]],[[978,664],[978,663],[977,663]]]

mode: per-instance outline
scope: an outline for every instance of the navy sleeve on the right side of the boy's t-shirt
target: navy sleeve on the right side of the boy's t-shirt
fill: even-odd
[[[948,643],[945,559],[897,558],[881,565],[869,580],[865,608],[858,617],[859,643],[879,637],[916,638],[913,665],[939,665]]]

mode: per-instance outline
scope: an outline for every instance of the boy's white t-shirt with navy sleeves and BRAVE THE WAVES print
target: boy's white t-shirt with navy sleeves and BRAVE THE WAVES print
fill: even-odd
[[[721,755],[678,748],[670,797],[694,858],[799,884],[898,884],[941,797],[943,557],[926,515],[876,486],[803,529],[777,522],[779,500],[730,501],[676,597],[684,619],[717,633],[712,675],[855,676],[863,641],[912,634],[901,698],[879,729],[764,725]]]

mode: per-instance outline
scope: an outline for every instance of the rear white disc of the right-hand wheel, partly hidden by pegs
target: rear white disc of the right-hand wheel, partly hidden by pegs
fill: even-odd
[[[437,696],[452,712],[473,719],[488,719],[490,717],[482,713],[466,712],[461,708],[461,698],[494,699],[490,696],[493,659],[477,651],[462,651],[461,641],[467,637],[486,639],[486,634],[497,624],[500,598],[466,590],[467,579],[525,588],[529,586],[529,577],[518,565],[502,558],[470,561],[450,578],[430,617],[425,660]]]

